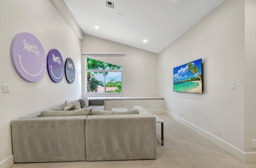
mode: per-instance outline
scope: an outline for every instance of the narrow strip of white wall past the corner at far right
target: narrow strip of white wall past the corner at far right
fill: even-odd
[[[244,130],[245,152],[256,153],[256,1],[245,0]],[[256,155],[252,158],[256,161]]]

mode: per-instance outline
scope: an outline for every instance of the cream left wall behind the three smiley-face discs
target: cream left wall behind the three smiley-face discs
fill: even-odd
[[[0,92],[0,167],[13,162],[10,121],[29,113],[75,100],[81,90],[81,41],[49,0],[0,1],[0,87],[10,84],[10,93]],[[66,78],[54,83],[46,70],[38,82],[21,78],[12,66],[10,44],[20,32],[32,33],[44,47],[58,49],[65,61],[72,58],[76,68],[73,84]]]

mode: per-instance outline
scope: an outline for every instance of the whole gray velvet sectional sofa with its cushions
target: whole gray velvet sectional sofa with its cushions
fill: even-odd
[[[140,106],[122,113],[83,98],[15,119],[14,162],[156,159],[156,118]]]

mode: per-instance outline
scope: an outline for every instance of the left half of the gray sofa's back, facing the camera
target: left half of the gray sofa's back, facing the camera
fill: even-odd
[[[32,117],[11,122],[14,162],[86,160],[87,116]]]

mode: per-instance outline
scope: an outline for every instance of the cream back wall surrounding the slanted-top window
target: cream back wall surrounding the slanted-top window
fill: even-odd
[[[125,53],[125,57],[96,57],[97,59],[123,65],[123,94],[85,94],[92,96],[157,96],[157,54],[113,41],[84,34],[82,52]],[[84,57],[83,57],[84,58]],[[85,76],[85,74],[82,74]]]

